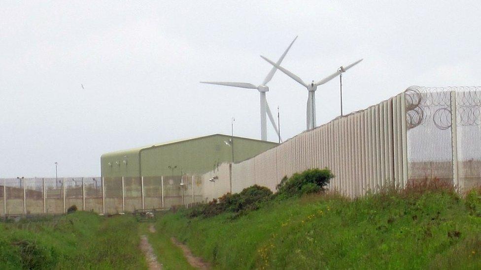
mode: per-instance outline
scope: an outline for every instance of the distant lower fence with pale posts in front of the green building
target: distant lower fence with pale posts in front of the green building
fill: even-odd
[[[203,200],[199,176],[0,179],[0,214],[98,213],[170,208]]]

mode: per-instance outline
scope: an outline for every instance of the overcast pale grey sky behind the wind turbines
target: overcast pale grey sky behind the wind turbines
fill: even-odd
[[[212,133],[260,138],[256,90],[282,65],[343,77],[344,111],[411,85],[481,83],[480,1],[2,1],[0,178],[100,175],[100,155]],[[83,84],[85,89],[82,89]],[[306,125],[307,90],[277,71],[267,99],[284,139]],[[339,114],[339,80],[316,92]],[[275,141],[269,126],[269,139]]]

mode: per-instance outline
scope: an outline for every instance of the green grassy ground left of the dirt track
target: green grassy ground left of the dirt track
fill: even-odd
[[[145,269],[131,216],[75,212],[0,223],[1,269]]]

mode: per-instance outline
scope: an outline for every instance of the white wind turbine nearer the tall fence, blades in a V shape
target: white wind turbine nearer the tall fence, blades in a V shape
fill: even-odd
[[[275,63],[263,56],[261,56],[264,60],[270,62],[274,67],[276,67],[277,69],[279,69],[280,71],[284,72],[287,76],[291,77],[292,79],[294,79],[294,81],[300,83],[301,85],[303,85],[304,87],[306,87],[308,89],[308,102],[307,102],[307,109],[306,109],[306,128],[307,130],[309,129],[312,129],[316,126],[316,119],[315,119],[315,91],[317,90],[317,87],[320,86],[320,85],[323,85],[327,82],[329,82],[330,80],[336,78],[339,74],[345,72],[346,70],[348,70],[349,68],[353,67],[354,65],[356,65],[357,63],[359,63],[361,60],[357,60],[355,62],[353,62],[352,64],[350,65],[347,65],[345,67],[342,67],[340,69],[338,69],[335,73],[327,76],[326,78],[314,83],[314,81],[312,81],[310,84],[306,84],[301,78],[299,78],[299,76],[295,75],[294,73],[290,72],[289,70],[281,67],[278,63]]]

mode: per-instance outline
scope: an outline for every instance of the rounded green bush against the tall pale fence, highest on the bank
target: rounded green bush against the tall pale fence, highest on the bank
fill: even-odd
[[[308,193],[324,191],[325,186],[334,178],[331,170],[309,169],[302,173],[295,173],[290,178],[284,177],[277,185],[276,196],[292,197]]]

